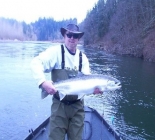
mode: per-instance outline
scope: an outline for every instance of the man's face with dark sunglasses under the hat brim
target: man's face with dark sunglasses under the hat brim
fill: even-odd
[[[67,31],[64,34],[64,39],[68,49],[75,49],[79,41],[79,35]]]

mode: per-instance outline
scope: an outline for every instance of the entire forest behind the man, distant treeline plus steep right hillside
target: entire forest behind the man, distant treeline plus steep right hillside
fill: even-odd
[[[0,40],[60,41],[60,27],[74,19],[39,18],[26,24],[0,18]],[[87,47],[155,62],[155,0],[99,0],[79,23]]]

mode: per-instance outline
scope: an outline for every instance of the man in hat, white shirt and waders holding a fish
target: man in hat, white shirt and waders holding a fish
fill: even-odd
[[[50,140],[81,140],[84,125],[84,103],[77,96],[67,95],[62,101],[53,82],[75,77],[79,72],[90,74],[89,61],[77,49],[84,32],[75,24],[60,29],[64,44],[53,46],[36,56],[31,63],[38,86],[53,95],[50,117]],[[51,72],[52,81],[46,80],[46,72]],[[96,91],[96,90],[95,90]]]

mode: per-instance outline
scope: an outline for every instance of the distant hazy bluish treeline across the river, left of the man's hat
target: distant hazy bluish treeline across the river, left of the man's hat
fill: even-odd
[[[15,19],[0,18],[0,40],[60,40],[60,28],[68,23],[77,24],[77,19],[55,21],[52,18],[39,18],[34,23],[26,24]]]

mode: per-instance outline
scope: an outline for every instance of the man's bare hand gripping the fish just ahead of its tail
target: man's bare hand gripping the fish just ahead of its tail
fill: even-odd
[[[46,90],[48,94],[55,94],[57,92],[56,88],[53,85],[52,81],[45,81],[41,84],[42,88]]]

